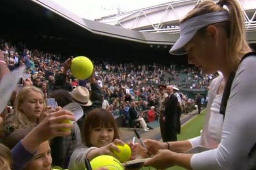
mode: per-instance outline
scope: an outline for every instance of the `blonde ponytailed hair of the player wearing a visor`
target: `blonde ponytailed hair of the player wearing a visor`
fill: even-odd
[[[251,51],[251,48],[246,41],[243,9],[238,0],[220,0],[218,3],[215,3],[212,0],[206,0],[197,4],[192,11],[189,11],[181,23],[202,14],[227,11],[223,6],[227,6],[228,8],[230,21],[217,24],[227,33],[229,39],[227,44],[229,47],[227,48],[227,57],[229,58],[227,59],[231,62],[232,67],[236,69],[241,57]],[[201,28],[198,32],[205,32],[205,28],[206,27]]]

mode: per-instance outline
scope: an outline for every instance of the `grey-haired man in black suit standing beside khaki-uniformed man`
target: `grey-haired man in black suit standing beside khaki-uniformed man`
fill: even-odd
[[[165,113],[163,120],[165,121],[166,131],[163,136],[163,142],[177,141],[177,107],[178,99],[173,94],[173,87],[171,85],[167,86],[166,92],[168,97],[165,101]]]

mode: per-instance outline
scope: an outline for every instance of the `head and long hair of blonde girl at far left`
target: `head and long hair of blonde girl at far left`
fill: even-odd
[[[45,110],[46,102],[41,89],[34,86],[24,87],[15,98],[14,112],[4,121],[4,132],[8,135],[18,127],[38,124]]]

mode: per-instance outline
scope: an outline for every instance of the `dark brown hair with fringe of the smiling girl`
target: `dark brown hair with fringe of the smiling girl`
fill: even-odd
[[[93,146],[90,143],[90,133],[91,130],[96,127],[112,127],[114,130],[113,139],[120,139],[118,127],[111,112],[107,109],[97,108],[90,111],[84,120],[82,140],[87,147]]]

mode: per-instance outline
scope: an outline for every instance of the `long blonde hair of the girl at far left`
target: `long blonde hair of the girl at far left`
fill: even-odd
[[[44,94],[41,89],[36,88],[34,86],[24,87],[19,93],[17,94],[14,102],[14,112],[9,115],[3,122],[3,130],[6,134],[12,133],[17,127],[26,127],[31,125],[32,122],[24,115],[24,113],[20,110],[20,106],[23,104],[24,100],[26,99],[29,92],[35,91],[42,95],[44,108],[46,108],[46,102],[44,99]]]

